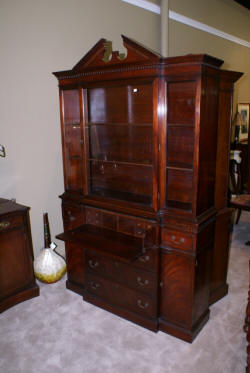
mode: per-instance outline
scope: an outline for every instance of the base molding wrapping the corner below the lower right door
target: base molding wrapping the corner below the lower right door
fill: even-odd
[[[177,337],[179,339],[182,339],[183,341],[192,343],[195,337],[197,336],[197,334],[200,332],[200,330],[203,328],[203,326],[208,321],[209,314],[210,314],[210,311],[207,310],[200,317],[200,319],[197,321],[197,323],[193,326],[191,330],[182,328],[178,325],[168,322],[167,320],[164,320],[163,318],[160,318],[159,330],[167,334],[170,334],[174,337]]]

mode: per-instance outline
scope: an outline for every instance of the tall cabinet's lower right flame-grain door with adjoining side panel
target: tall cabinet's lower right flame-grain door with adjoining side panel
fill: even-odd
[[[211,250],[208,246],[196,257],[162,253],[161,317],[191,330],[208,313]]]

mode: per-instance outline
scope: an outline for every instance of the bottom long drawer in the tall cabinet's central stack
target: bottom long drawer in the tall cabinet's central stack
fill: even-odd
[[[113,305],[148,317],[157,317],[155,298],[94,274],[86,275],[86,291]]]

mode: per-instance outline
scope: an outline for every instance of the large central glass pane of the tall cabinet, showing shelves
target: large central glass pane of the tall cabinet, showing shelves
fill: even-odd
[[[154,205],[154,81],[99,83],[85,92],[88,194]]]

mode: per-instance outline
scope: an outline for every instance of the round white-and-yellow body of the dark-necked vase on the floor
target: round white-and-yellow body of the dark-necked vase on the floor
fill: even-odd
[[[55,243],[52,242],[50,247],[42,249],[34,260],[36,278],[47,284],[57,282],[66,273],[65,260],[54,251],[55,247]]]

